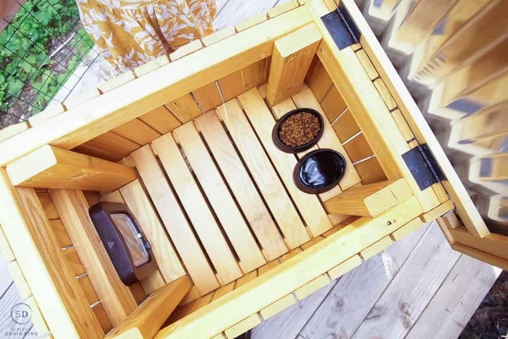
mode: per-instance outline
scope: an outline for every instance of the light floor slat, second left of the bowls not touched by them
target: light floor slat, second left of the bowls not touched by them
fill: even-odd
[[[268,260],[273,260],[287,252],[288,249],[282,241],[268,209],[261,200],[226,132],[220,125],[215,112],[200,116],[196,119],[196,126],[210,147],[215,161],[226,177]]]

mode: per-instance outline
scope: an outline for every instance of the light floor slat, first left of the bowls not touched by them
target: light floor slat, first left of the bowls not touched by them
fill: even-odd
[[[309,236],[298,213],[238,103],[235,100],[229,101],[218,107],[217,113],[228,128],[261,194],[270,206],[289,247],[294,249],[308,241]]]

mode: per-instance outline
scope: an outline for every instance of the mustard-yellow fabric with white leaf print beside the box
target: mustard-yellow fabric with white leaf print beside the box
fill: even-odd
[[[214,31],[215,0],[76,0],[101,54],[125,72]]]

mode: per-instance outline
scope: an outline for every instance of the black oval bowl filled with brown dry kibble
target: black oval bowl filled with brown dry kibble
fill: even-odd
[[[275,146],[286,153],[309,149],[323,136],[323,116],[311,108],[298,108],[277,120],[272,131]]]

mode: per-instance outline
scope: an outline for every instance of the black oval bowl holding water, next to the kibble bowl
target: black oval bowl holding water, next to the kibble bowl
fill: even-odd
[[[297,162],[293,181],[305,193],[320,194],[334,188],[345,169],[346,161],[339,152],[328,148],[316,149]]]

